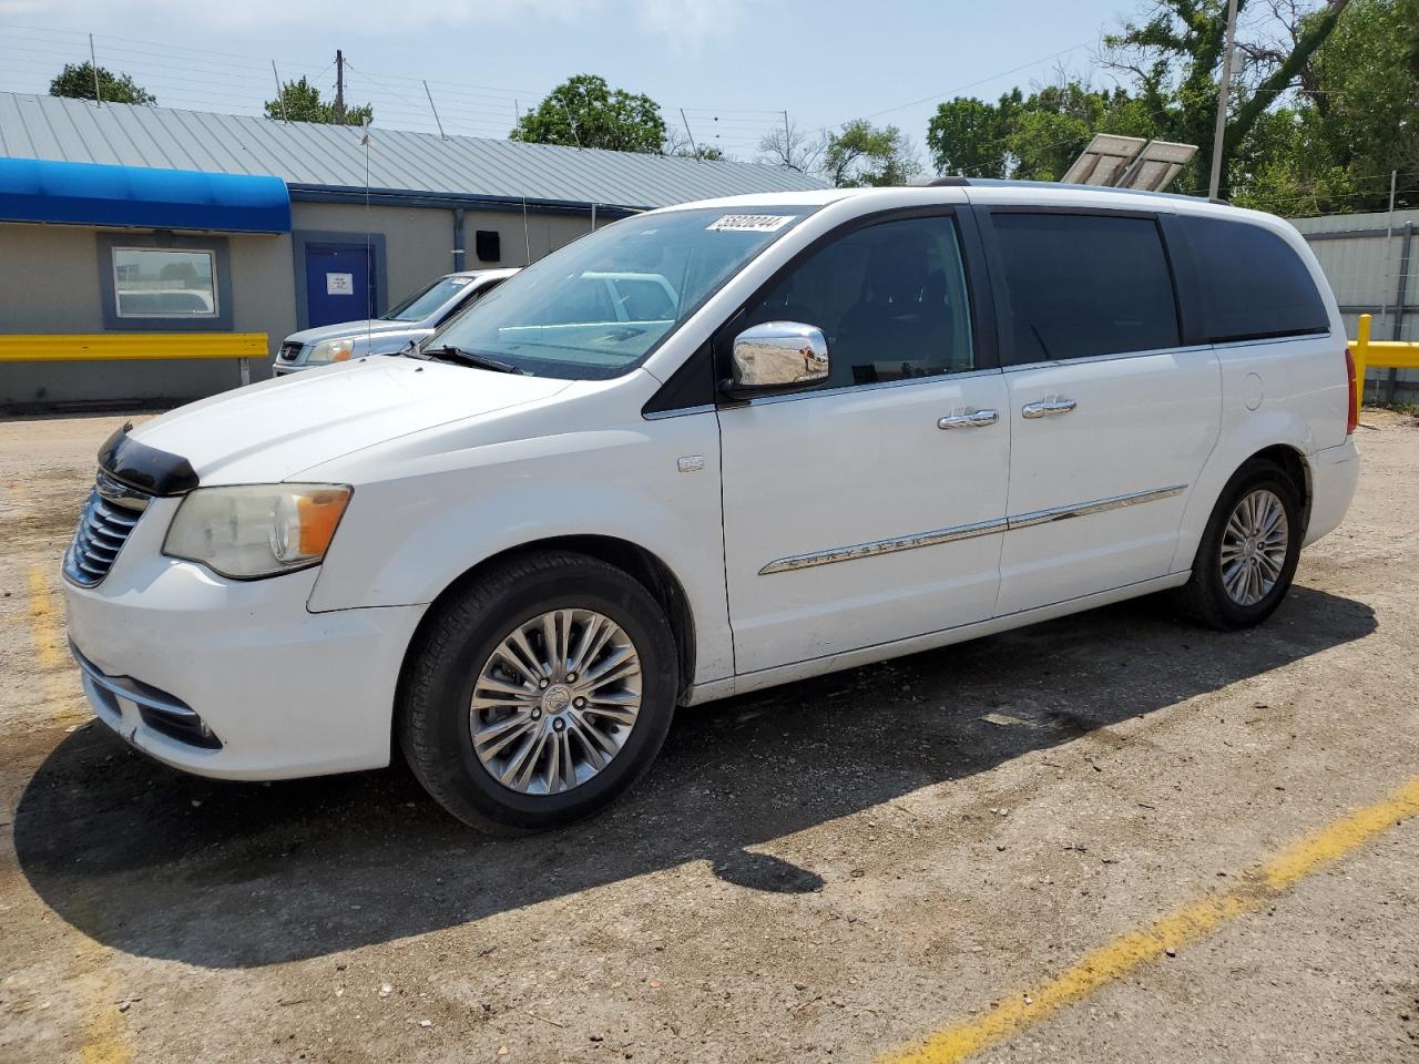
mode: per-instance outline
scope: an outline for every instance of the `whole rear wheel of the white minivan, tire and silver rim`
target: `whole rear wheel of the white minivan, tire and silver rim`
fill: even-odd
[[[1296,484],[1274,462],[1247,462],[1212,512],[1182,589],[1185,606],[1223,631],[1260,624],[1291,587],[1301,535]]]

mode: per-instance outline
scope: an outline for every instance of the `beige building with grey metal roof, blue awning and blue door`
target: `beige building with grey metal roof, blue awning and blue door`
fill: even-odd
[[[0,94],[0,406],[211,394],[270,376],[285,335],[440,274],[524,265],[650,207],[812,187],[746,163]],[[217,358],[237,336],[244,369]],[[146,338],[194,358],[112,358]]]

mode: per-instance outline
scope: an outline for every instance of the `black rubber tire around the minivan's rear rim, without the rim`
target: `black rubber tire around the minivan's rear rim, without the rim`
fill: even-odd
[[[1227,522],[1243,498],[1259,489],[1270,491],[1286,512],[1287,542],[1281,572],[1271,589],[1257,602],[1243,604],[1226,589],[1222,575],[1222,545]],[[1181,589],[1183,609],[1203,624],[1220,631],[1236,631],[1260,624],[1286,597],[1296,576],[1305,535],[1300,491],[1290,474],[1276,462],[1254,458],[1243,465],[1222,489],[1208,529],[1192,562],[1192,576]]]

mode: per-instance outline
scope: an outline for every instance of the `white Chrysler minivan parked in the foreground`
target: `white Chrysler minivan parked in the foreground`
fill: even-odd
[[[607,309],[610,274],[664,284]],[[1335,299],[1267,214],[961,179],[691,203],[404,358],[116,433],[70,634],[167,765],[402,749],[461,820],[543,829],[681,705],[1168,589],[1261,621],[1349,505],[1354,419]]]

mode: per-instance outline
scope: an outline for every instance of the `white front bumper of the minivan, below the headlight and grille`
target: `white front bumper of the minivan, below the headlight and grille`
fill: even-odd
[[[311,613],[316,569],[241,582],[163,558],[175,505],[149,506],[101,584],[62,582],[98,718],[158,760],[219,779],[387,765],[423,609]]]

